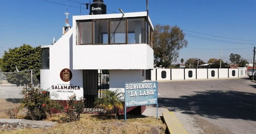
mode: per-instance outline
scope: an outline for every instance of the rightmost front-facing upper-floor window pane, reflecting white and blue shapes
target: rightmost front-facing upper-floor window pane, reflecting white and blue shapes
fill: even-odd
[[[128,44],[145,43],[144,18],[127,19]]]

